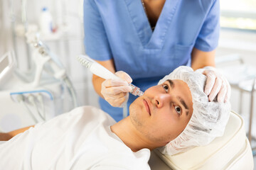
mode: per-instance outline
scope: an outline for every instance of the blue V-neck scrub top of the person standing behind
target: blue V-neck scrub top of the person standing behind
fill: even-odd
[[[140,0],[85,0],[85,52],[95,60],[113,59],[116,70],[145,91],[176,67],[191,66],[193,47],[215,50],[219,13],[219,0],[166,0],[153,32]],[[129,95],[128,106],[135,98]],[[100,106],[122,119],[122,108],[103,98]]]

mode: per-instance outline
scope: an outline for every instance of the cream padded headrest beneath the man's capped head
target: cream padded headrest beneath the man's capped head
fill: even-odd
[[[194,147],[173,156],[165,155],[157,149],[151,152],[151,170],[215,170],[253,169],[250,143],[245,134],[244,120],[231,111],[228,124],[222,137],[204,147]]]

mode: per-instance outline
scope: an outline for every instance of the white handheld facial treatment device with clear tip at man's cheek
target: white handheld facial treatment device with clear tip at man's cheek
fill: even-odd
[[[106,69],[99,63],[92,60],[87,55],[78,55],[77,59],[78,59],[78,62],[80,62],[83,66],[90,69],[90,72],[97,75],[98,77],[101,77],[102,79],[118,79],[118,80],[120,80],[119,77],[114,75],[112,72],[110,72],[108,69]],[[133,94],[134,96],[142,96],[144,94],[142,91],[140,91],[139,87],[134,86],[134,84],[129,84],[129,86],[132,87],[132,91],[129,91],[129,93]]]

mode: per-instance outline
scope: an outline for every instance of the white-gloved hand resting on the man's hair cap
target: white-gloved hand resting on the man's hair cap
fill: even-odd
[[[213,101],[217,96],[218,102],[227,102],[230,99],[230,84],[228,80],[217,72],[214,67],[204,67],[202,69],[202,73],[206,75],[206,86],[205,86],[205,94],[208,96],[209,101]]]

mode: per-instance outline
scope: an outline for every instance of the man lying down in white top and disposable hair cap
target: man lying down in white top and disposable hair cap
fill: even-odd
[[[92,106],[38,123],[0,145],[0,169],[150,169],[152,149],[172,155],[208,145],[223,135],[230,103],[208,102],[205,82],[178,67],[118,123]]]

